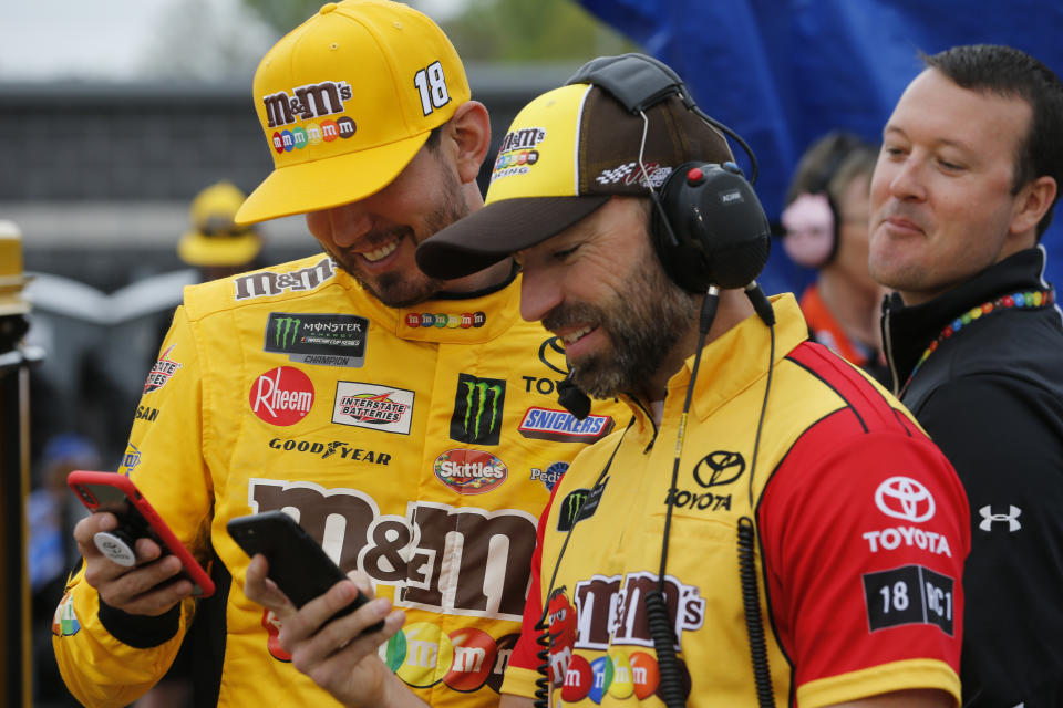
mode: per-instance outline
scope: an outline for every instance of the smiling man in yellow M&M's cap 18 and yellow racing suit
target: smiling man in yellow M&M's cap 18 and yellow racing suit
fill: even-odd
[[[126,705],[195,617],[197,706],[331,705],[245,595],[265,559],[226,531],[286,510],[376,583],[367,607],[391,632],[392,603],[405,610],[373,659],[389,694],[494,706],[538,513],[620,408],[558,409],[561,346],[520,320],[513,261],[457,280],[417,269],[419,242],[483,206],[491,137],[435,23],[402,3],[328,3],[267,53],[252,94],[275,169],[236,221],[306,215],[326,252],[185,289],[122,468],[217,592],[171,582],[179,562],[146,539],[135,566],[109,561],[92,538],[116,520],[93,514],[60,603],[75,620],[53,642],[63,678],[87,706]],[[330,592],[357,596],[348,581]]]

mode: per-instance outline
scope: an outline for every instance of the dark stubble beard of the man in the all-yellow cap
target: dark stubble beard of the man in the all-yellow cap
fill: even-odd
[[[458,219],[468,216],[471,209],[457,178],[450,169],[442,167],[438,174],[441,194],[435,206],[425,216],[423,229],[419,231],[412,226],[394,226],[370,231],[364,240],[370,243],[388,243],[392,240],[401,241],[409,238],[416,246],[436,231],[442,231]],[[383,273],[362,272],[360,268],[362,256],[324,250],[340,269],[347,271],[362,288],[389,308],[409,308],[430,300],[438,294],[447,282],[429,278],[416,266],[401,266]]]

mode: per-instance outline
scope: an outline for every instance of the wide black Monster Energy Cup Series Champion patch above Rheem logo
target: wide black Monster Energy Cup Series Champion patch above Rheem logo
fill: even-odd
[[[318,366],[365,364],[369,320],[352,314],[270,312],[264,350]]]

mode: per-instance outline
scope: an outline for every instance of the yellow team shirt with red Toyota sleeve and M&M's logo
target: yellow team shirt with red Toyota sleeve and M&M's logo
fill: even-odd
[[[775,705],[828,706],[906,688],[960,699],[968,506],[949,462],[887,392],[776,298],[776,356],[758,449],[768,331],[751,317],[703,352],[681,466],[677,423],[637,419],[584,451],[539,522],[533,592],[504,693],[549,676],[557,706],[661,706],[646,594],[664,580],[688,706],[756,706],[739,571],[755,520],[758,603]],[[753,467],[754,455],[756,458]],[[611,461],[610,461],[611,458]],[[566,545],[567,541],[567,545]],[[564,550],[563,550],[564,549]],[[549,650],[536,658],[547,606]]]

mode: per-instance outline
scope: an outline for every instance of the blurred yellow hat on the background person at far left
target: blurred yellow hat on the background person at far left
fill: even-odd
[[[234,221],[245,195],[235,185],[210,185],[192,200],[192,230],[180,237],[177,254],[190,266],[244,266],[250,263],[262,241],[247,226]]]

